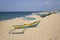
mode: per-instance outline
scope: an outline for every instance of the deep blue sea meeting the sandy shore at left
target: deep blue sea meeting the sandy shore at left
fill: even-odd
[[[32,15],[32,13],[37,13],[37,12],[0,12],[0,21],[12,19],[12,18],[24,17],[27,15]]]

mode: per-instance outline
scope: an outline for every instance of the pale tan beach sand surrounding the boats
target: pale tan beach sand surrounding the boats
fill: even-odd
[[[31,16],[30,16],[31,17]],[[60,40],[60,14],[51,14],[45,18],[32,16],[41,22],[35,28],[27,28],[24,34],[9,34],[13,29],[12,25],[22,25],[34,21],[13,18],[0,21],[0,40]]]

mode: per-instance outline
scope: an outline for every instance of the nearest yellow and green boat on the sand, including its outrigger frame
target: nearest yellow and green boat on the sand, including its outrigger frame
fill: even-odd
[[[15,29],[24,29],[24,30],[22,30],[22,32],[15,32],[15,33],[12,32],[13,30],[11,30],[9,33],[10,33],[10,34],[22,34],[22,33],[24,33],[24,31],[25,31],[26,28],[36,27],[39,23],[40,23],[40,21],[35,21],[35,22],[33,22],[33,23],[30,23],[30,24],[13,25],[13,27],[14,27],[13,30],[15,30]],[[12,33],[11,33],[11,32],[12,32]]]

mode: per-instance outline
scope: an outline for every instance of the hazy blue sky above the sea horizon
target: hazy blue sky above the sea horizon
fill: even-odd
[[[0,0],[0,12],[60,10],[60,0]]]

